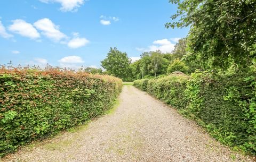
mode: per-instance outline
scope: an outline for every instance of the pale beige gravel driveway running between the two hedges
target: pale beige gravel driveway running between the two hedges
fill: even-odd
[[[124,86],[114,113],[23,147],[3,161],[253,161],[160,101]],[[255,159],[254,159],[255,160]]]

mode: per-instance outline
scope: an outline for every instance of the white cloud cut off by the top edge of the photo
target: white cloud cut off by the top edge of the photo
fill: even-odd
[[[84,0],[39,0],[43,3],[60,3],[62,12],[76,12],[84,4]]]

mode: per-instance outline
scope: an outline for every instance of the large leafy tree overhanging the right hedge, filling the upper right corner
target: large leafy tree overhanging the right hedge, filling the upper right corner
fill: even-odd
[[[246,67],[256,57],[255,0],[170,0],[178,4],[169,27],[188,27],[187,59],[209,67]],[[178,19],[178,20],[177,20]]]

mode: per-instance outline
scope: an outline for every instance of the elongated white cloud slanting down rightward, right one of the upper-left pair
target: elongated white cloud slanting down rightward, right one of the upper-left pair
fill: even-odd
[[[55,25],[50,19],[44,18],[38,20],[34,25],[38,30],[42,31],[42,35],[55,42],[58,42],[63,38],[67,38],[64,33],[60,32],[59,26]]]

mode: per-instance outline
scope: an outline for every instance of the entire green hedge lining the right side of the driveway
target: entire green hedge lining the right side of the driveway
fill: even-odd
[[[170,75],[149,80],[147,92],[196,120],[222,143],[256,155],[255,76]]]

